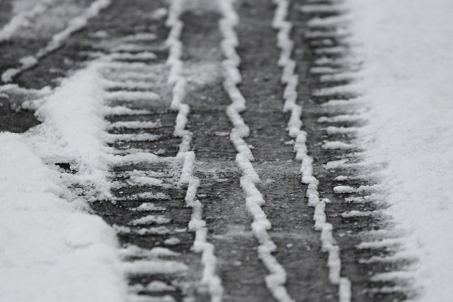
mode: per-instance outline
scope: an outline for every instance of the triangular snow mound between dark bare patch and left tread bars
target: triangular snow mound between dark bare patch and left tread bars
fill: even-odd
[[[44,121],[25,134],[30,146],[46,163],[69,163],[76,174],[69,181],[86,187],[88,199],[110,196],[108,158],[104,132],[103,87],[97,64],[63,81],[45,98],[36,115]],[[92,189],[92,190],[90,190]]]

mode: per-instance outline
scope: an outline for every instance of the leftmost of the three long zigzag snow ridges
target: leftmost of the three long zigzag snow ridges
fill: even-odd
[[[166,45],[169,47],[167,64],[170,66],[170,74],[168,76],[168,83],[173,85],[171,109],[178,111],[173,135],[182,138],[176,158],[184,159],[180,184],[188,185],[185,194],[185,204],[192,208],[192,217],[188,227],[190,231],[195,231],[193,250],[202,253],[203,272],[200,284],[207,286],[211,302],[221,302],[224,294],[222,279],[216,273],[217,257],[214,254],[215,248],[212,243],[207,242],[206,221],[202,219],[203,206],[197,199],[200,180],[193,175],[195,152],[190,151],[193,134],[185,129],[190,107],[188,104],[183,103],[187,81],[182,75],[183,62],[181,61],[183,45],[180,41],[180,36],[184,26],[184,23],[180,20],[180,15],[183,12],[182,3],[182,0],[171,1],[166,21],[166,25],[170,28]]]

